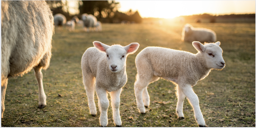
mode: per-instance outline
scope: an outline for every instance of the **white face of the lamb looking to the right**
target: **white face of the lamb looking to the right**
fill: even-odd
[[[225,61],[222,57],[222,49],[216,44],[207,44],[205,46],[204,57],[206,65],[211,69],[223,69]]]

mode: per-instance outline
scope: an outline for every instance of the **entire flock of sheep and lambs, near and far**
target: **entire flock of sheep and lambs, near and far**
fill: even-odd
[[[66,18],[61,14],[52,15],[45,1],[1,1],[2,10],[2,55],[1,55],[1,87],[2,87],[2,117],[5,91],[9,77],[22,76],[34,70],[38,81],[38,107],[46,106],[46,95],[42,83],[42,69],[49,66],[51,58],[51,40],[54,25],[62,26]],[[93,15],[83,14],[84,30],[101,26]],[[78,23],[77,17],[66,25],[70,30]],[[58,27],[57,27],[58,28]],[[101,28],[97,28],[101,30]],[[198,51],[193,54],[186,51],[162,47],[146,47],[135,58],[137,68],[134,85],[136,102],[140,113],[145,114],[149,107],[148,84],[159,78],[172,81],[176,85],[178,103],[176,113],[178,118],[184,118],[183,101],[188,98],[194,110],[194,116],[199,126],[206,126],[200,110],[199,100],[192,87],[197,81],[209,75],[212,69],[221,70],[225,67],[222,57],[223,50],[216,42],[216,34],[205,28],[193,28],[187,24],[183,28],[182,40],[192,42]],[[209,42],[201,44],[200,42]],[[96,105],[94,93],[98,97],[99,122],[101,126],[108,125],[107,110],[109,107],[108,93],[111,96],[113,120],[115,126],[121,126],[119,113],[120,94],[127,82],[126,58],[139,48],[138,43],[127,46],[108,46],[99,41],[93,42],[94,47],[88,48],[82,55],[81,66],[83,83],[89,102],[90,114],[95,116]]]

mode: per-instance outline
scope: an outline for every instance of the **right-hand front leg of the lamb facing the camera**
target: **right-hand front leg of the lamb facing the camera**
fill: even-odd
[[[122,125],[120,112],[119,112],[121,91],[122,91],[122,88],[118,89],[117,91],[110,92],[111,106],[112,106],[112,111],[113,111],[113,120],[114,120],[115,126]]]

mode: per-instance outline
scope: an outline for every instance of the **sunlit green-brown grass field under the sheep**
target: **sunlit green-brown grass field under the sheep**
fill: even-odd
[[[192,23],[212,29],[221,42],[226,67],[212,70],[193,87],[207,126],[255,127],[255,23]],[[6,127],[98,127],[99,110],[92,117],[82,83],[82,54],[93,41],[107,45],[138,42],[135,54],[127,57],[127,83],[121,93],[120,115],[123,127],[197,127],[192,106],[185,99],[185,119],[175,114],[175,85],[160,79],[148,86],[151,103],[145,115],[139,113],[134,95],[136,55],[147,46],[160,46],[197,53],[191,42],[181,41],[183,24],[103,24],[103,32],[56,31],[52,58],[43,70],[47,106],[38,109],[38,86],[31,71],[10,78],[5,96],[2,126]],[[61,96],[58,96],[60,94]],[[111,101],[110,101],[111,102]],[[108,126],[114,127],[112,108]]]

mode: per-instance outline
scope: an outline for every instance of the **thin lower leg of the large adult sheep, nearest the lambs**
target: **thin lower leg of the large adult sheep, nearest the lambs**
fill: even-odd
[[[44,93],[43,87],[43,74],[42,74],[42,66],[40,64],[33,68],[35,72],[35,76],[38,83],[38,108],[42,109],[46,106],[46,95]]]

